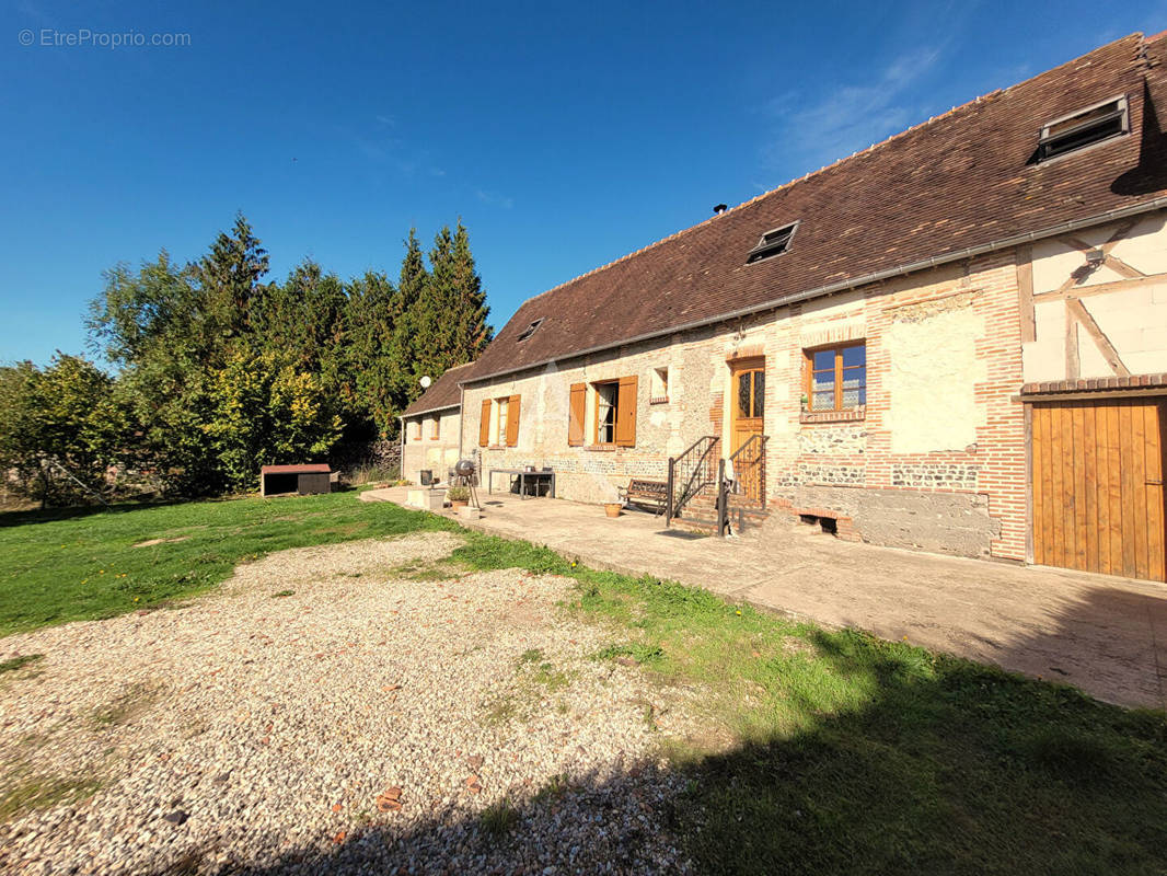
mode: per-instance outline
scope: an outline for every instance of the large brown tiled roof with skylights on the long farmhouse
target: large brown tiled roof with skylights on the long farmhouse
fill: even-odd
[[[1167,124],[1165,54],[1167,41],[1117,40],[544,292],[460,380],[767,310],[1151,204],[1167,194],[1167,138],[1146,100],[1154,96]],[[1042,124],[1119,95],[1130,100],[1130,135],[1030,162]],[[788,252],[746,264],[764,231],[796,220]],[[537,319],[538,329],[517,341]]]

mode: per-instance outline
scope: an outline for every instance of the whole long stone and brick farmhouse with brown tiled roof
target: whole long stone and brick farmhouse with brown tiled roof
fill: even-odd
[[[684,521],[724,460],[739,526],[1163,580],[1165,62],[1117,40],[531,298],[405,412],[406,477],[671,470]]]

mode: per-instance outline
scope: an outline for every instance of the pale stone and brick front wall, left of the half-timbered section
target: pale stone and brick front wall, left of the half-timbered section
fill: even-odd
[[[1007,251],[753,318],[466,387],[463,442],[483,398],[522,397],[518,446],[478,449],[483,468],[551,466],[559,495],[606,501],[630,477],[664,479],[704,434],[732,447],[732,363],[766,363],[767,492],[775,507],[837,508],[866,541],[1025,556],[1025,417],[1018,253]],[[803,410],[804,350],[862,341],[867,403]],[[650,404],[669,368],[669,398]],[[636,375],[634,447],[571,447],[573,383]],[[588,394],[589,398],[592,392]],[[589,402],[587,416],[594,418]],[[588,432],[591,436],[591,431]],[[586,444],[591,444],[591,437]]]

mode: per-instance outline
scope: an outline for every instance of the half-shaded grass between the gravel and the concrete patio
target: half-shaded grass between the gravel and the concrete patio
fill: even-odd
[[[725,732],[668,739],[699,872],[1165,872],[1167,721],[857,631],[579,573],[602,659],[697,684]],[[652,721],[645,714],[645,721]]]

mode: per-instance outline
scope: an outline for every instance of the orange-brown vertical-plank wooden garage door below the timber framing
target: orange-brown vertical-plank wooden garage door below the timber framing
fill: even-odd
[[[1034,562],[1165,580],[1165,406],[1033,405]]]

